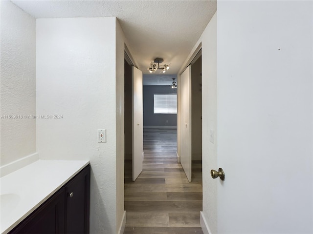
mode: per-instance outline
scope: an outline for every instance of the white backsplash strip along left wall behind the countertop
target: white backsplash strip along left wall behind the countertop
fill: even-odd
[[[31,164],[39,159],[39,154],[34,153],[32,155],[28,155],[25,157],[22,157],[18,160],[15,160],[13,162],[10,162],[8,164],[5,164],[0,167],[0,177],[6,176],[12,172],[15,172],[19,169],[21,169],[24,166],[27,166],[28,164]]]

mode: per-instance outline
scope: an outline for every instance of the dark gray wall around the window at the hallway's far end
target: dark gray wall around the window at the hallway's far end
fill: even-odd
[[[177,89],[169,85],[144,85],[143,86],[143,126],[167,128],[177,126],[177,114],[154,114],[154,94],[177,94]]]

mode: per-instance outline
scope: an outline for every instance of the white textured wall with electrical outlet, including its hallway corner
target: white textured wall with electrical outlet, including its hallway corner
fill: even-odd
[[[36,33],[37,114],[62,116],[37,120],[37,150],[90,160],[90,233],[115,234],[124,211],[122,31],[115,18],[72,18],[37,19]],[[97,129],[107,129],[106,143]]]

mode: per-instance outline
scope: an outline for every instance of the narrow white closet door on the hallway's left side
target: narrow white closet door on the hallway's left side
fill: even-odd
[[[142,172],[143,162],[143,94],[142,72],[132,67],[133,87],[133,181]]]

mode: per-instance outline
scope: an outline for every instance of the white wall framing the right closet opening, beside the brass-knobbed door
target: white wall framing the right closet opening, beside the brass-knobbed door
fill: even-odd
[[[181,67],[180,73],[194,58],[199,46],[202,48],[202,142],[204,142],[202,145],[203,212],[201,213],[201,227],[203,233],[206,234],[207,232],[217,233],[218,181],[210,176],[210,170],[217,169],[217,13],[206,26]],[[182,95],[183,93],[179,94],[179,97]],[[178,115],[179,121],[180,115]],[[214,143],[209,140],[210,130],[214,131]],[[178,129],[179,131],[180,129]],[[180,139],[178,138],[179,144]]]

